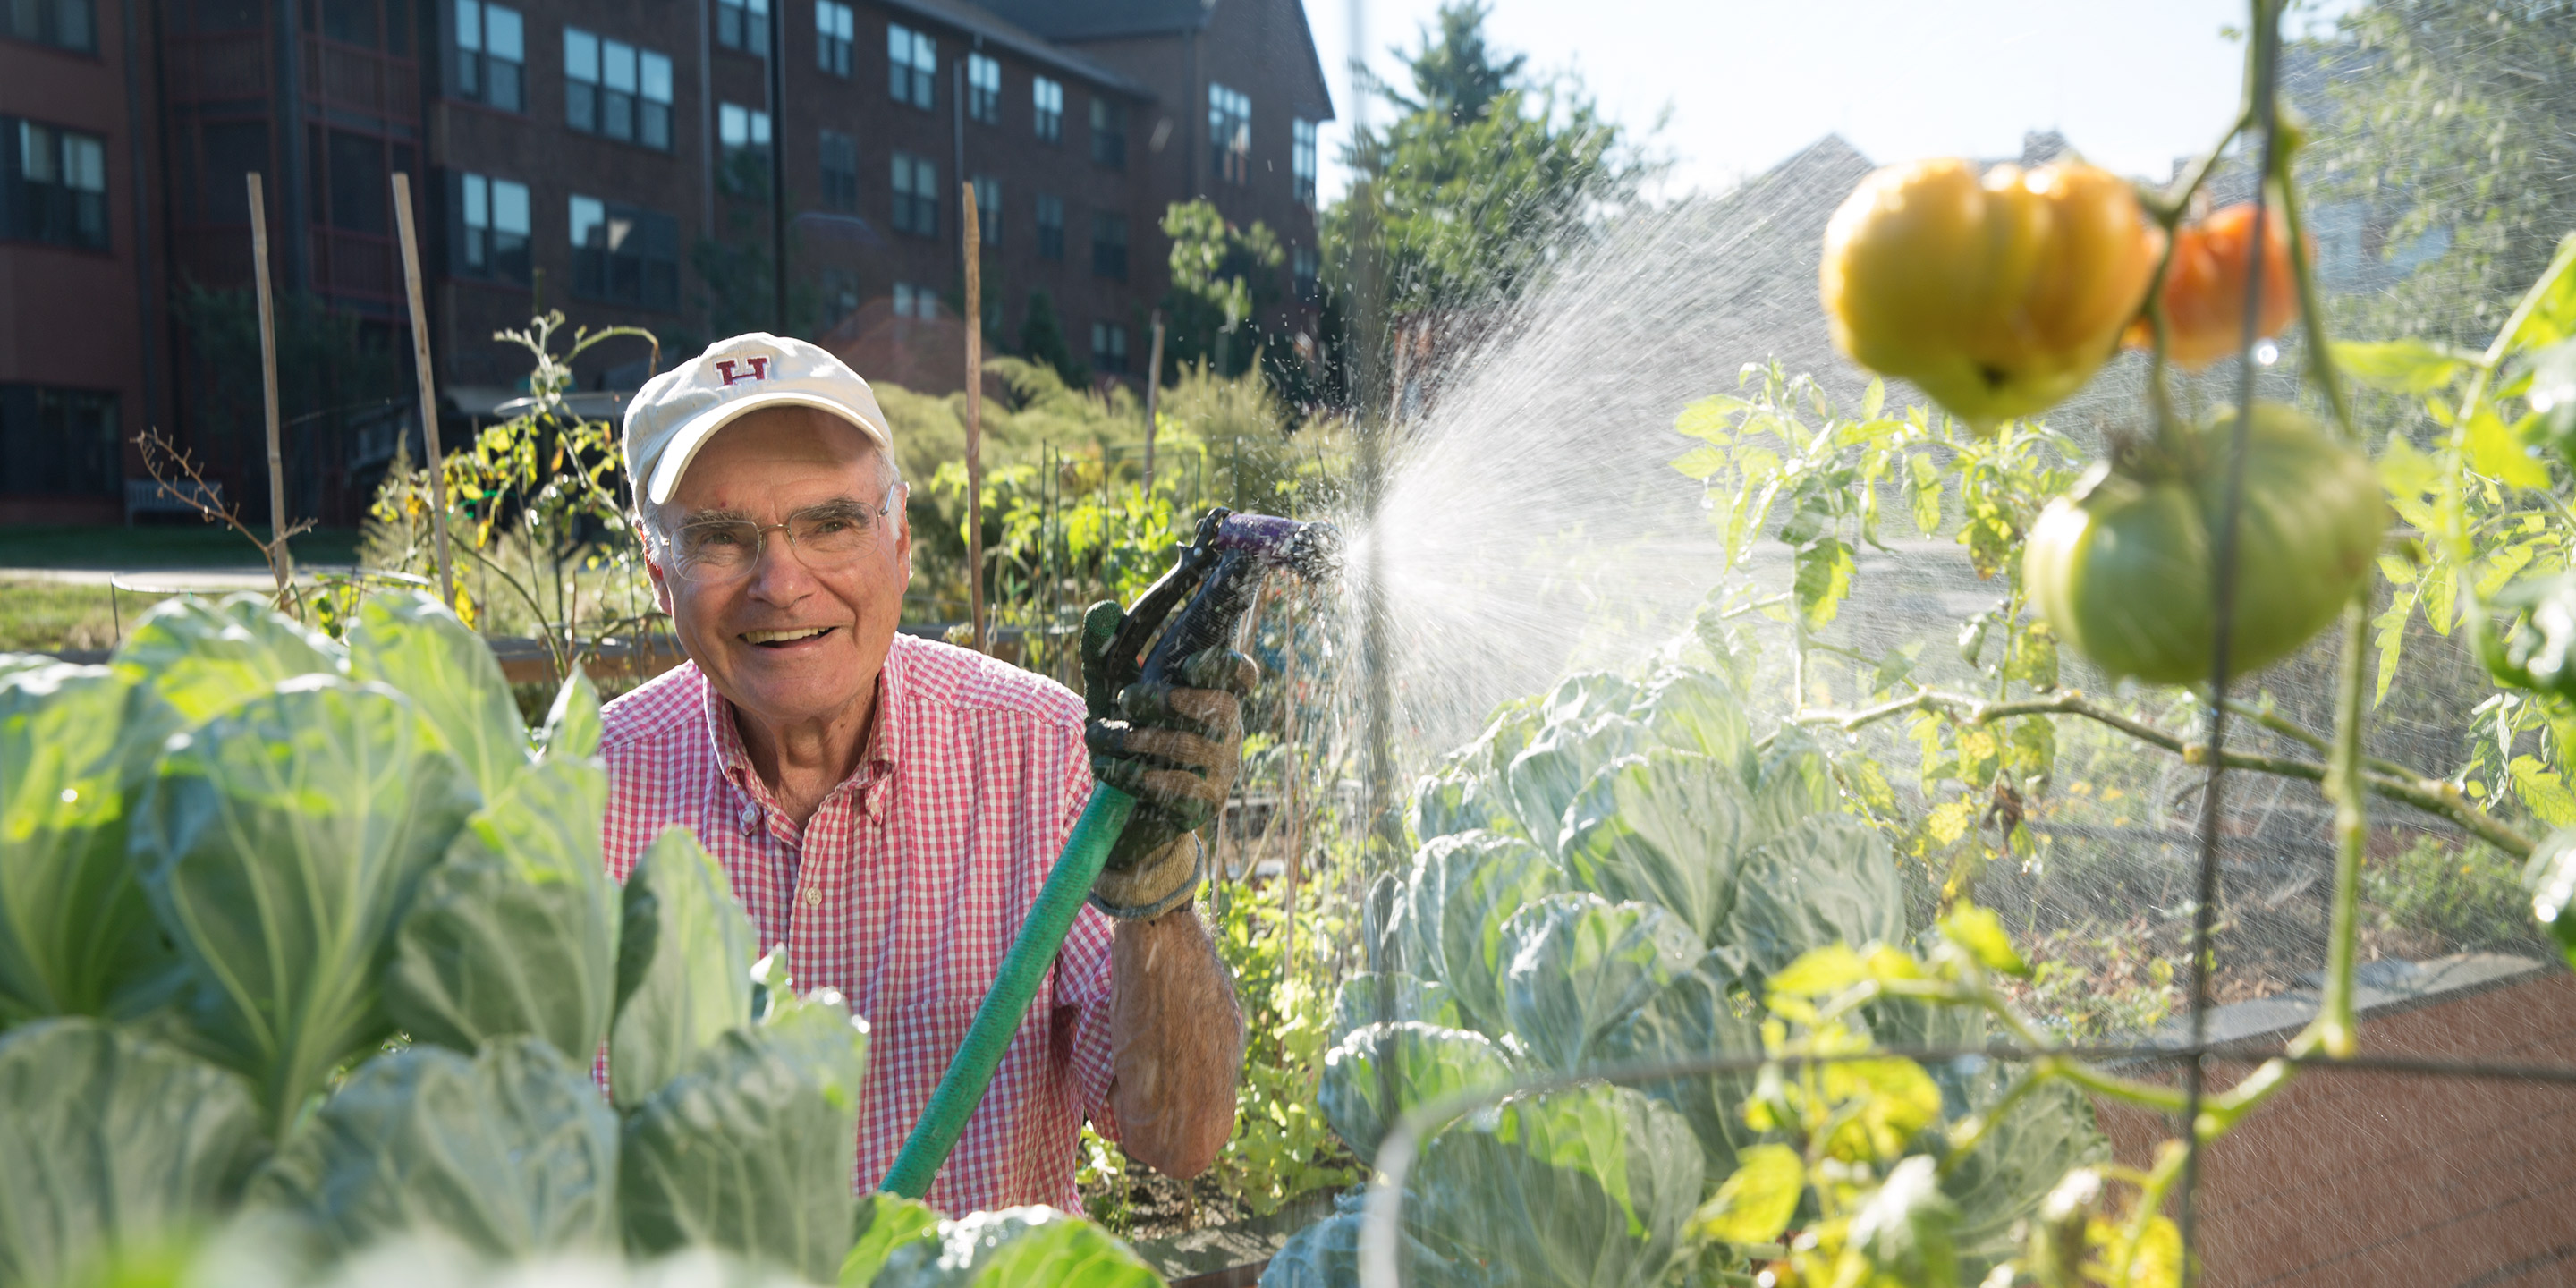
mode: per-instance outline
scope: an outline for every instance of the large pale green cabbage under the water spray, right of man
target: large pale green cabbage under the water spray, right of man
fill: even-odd
[[[1628,1285],[1682,1273],[1695,1239],[1728,1229],[1710,1221],[1721,1185],[1762,1175],[1798,1141],[1795,1123],[1762,1115],[1754,1069],[1633,1090],[1582,1077],[1777,1054],[1814,1020],[1795,997],[1790,1015],[1770,1010],[1772,981],[1801,958],[1914,961],[1896,855],[1844,809],[1814,739],[1783,729],[1757,744],[1736,683],[1669,657],[1643,677],[1577,675],[1507,703],[1419,783],[1409,824],[1409,871],[1373,894],[1370,974],[1340,997],[1319,1090],[1327,1121],[1373,1159],[1404,1110],[1522,1082],[1561,1090],[1515,1095],[1422,1141],[1404,1180],[1406,1283]],[[1901,997],[1837,1025],[1857,1043],[1984,1041],[1981,1012]],[[1870,1139],[1886,1146],[1873,1167],[1906,1177],[1883,1208],[1909,1216],[1860,1226],[1880,1231],[1870,1247],[1888,1265],[1932,1255],[1984,1273],[2014,1252],[2014,1226],[2058,1177],[2105,1154],[2074,1092],[2020,1092],[1986,1126],[2007,1095],[1994,1069],[1875,1064],[1906,1087],[1891,1103],[1909,1105],[1888,1118],[1901,1131]],[[1935,1170],[1953,1136],[1963,1154]],[[1358,1224],[1340,1211],[1309,1226],[1262,1283],[1355,1283]],[[1935,1226],[1932,1252],[1906,1242]]]

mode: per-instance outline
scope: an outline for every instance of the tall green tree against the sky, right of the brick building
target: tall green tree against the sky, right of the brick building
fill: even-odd
[[[1481,0],[1440,8],[1437,31],[1406,54],[1412,93],[1378,85],[1396,118],[1352,137],[1352,193],[1324,211],[1324,247],[1347,281],[1355,206],[1368,206],[1399,314],[1515,296],[1654,173],[1582,80],[1497,54],[1486,13]]]

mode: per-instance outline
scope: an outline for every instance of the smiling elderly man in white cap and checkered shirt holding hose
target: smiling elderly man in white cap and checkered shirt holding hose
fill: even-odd
[[[1095,757],[1061,685],[896,634],[912,526],[894,435],[868,384],[801,340],[737,335],[657,376],[623,451],[688,662],[603,711],[608,866],[623,878],[657,832],[696,829],[796,984],[868,1018],[855,1182],[873,1188],[920,1118],[1095,768],[1141,793],[1139,822],[927,1198],[1074,1208],[1084,1118],[1159,1172],[1206,1170],[1234,1128],[1244,1028],[1190,904],[1188,827],[1234,781],[1234,693],[1131,693],[1139,719],[1095,721]],[[1252,680],[1231,654],[1198,662]]]

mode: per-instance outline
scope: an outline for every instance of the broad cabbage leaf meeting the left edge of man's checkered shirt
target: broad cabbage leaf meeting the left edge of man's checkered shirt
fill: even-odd
[[[618,987],[605,809],[608,770],[546,757],[466,819],[394,930],[384,1005],[404,1033],[466,1054],[510,1033],[600,1048]]]

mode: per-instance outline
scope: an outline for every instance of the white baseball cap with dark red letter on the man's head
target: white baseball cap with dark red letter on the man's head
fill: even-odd
[[[894,430],[868,381],[819,345],[755,330],[644,381],[626,404],[626,477],[636,497],[670,500],[680,474],[716,430],[762,407],[832,412],[894,453]]]

